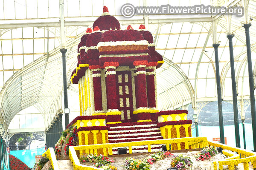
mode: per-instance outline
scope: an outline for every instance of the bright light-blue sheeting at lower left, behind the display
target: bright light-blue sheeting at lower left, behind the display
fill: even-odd
[[[33,168],[35,164],[35,156],[42,155],[44,152],[45,148],[41,147],[30,150],[12,150],[10,154],[23,161],[28,167]]]

